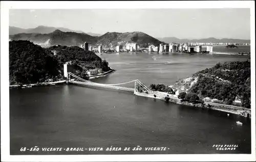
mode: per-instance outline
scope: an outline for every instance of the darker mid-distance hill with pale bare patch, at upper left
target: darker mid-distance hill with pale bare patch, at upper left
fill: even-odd
[[[10,40],[29,40],[38,45],[67,45],[80,46],[84,42],[95,44],[97,38],[85,33],[62,32],[55,30],[49,34],[20,33],[9,36]]]

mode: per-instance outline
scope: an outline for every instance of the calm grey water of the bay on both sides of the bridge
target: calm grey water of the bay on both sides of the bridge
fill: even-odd
[[[218,62],[248,57],[157,53],[112,53],[100,56],[116,72],[94,82],[116,84],[139,79],[171,85],[178,78]],[[127,87],[133,87],[128,84]],[[242,121],[243,126],[236,125]],[[216,111],[166,103],[133,93],[79,86],[10,90],[11,154],[173,154],[250,153],[250,121]],[[212,145],[236,144],[233,151]],[[20,152],[21,147],[167,147],[167,151]]]

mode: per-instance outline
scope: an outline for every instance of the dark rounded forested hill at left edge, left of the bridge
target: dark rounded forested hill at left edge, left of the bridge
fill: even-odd
[[[9,75],[11,84],[43,82],[62,77],[60,65],[52,53],[30,41],[9,42]]]

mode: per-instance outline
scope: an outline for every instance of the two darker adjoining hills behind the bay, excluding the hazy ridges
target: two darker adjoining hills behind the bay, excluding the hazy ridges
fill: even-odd
[[[90,45],[102,45],[103,47],[115,47],[116,45],[129,45],[130,43],[137,43],[139,46],[148,46],[153,44],[159,46],[161,42],[142,32],[132,33],[105,33],[102,36],[91,36],[86,33],[62,32],[55,30],[52,33],[19,33],[9,36],[10,40],[29,40],[38,45],[67,45],[80,46],[84,42]]]

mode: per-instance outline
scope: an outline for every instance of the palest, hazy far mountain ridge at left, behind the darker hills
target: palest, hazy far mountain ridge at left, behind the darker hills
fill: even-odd
[[[15,26],[9,26],[9,35],[19,34],[19,33],[39,33],[39,34],[48,34],[52,33],[56,30],[60,30],[62,32],[75,32],[75,33],[84,33],[82,31],[73,31],[67,28],[55,28],[51,26],[37,26],[36,28],[22,29],[17,28]]]

